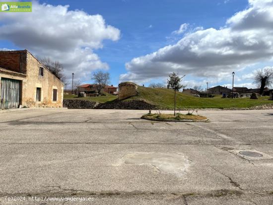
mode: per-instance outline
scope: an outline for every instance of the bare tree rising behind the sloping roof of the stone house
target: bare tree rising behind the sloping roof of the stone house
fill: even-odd
[[[66,76],[64,75],[64,67],[59,61],[53,61],[48,57],[40,58],[38,57],[40,63],[49,69],[56,77],[58,77],[63,82],[66,81]]]

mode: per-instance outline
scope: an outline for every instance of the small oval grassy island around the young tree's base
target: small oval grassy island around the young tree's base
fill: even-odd
[[[146,115],[142,115],[142,119],[146,120],[206,120],[207,118],[201,115],[193,115],[193,114],[179,114],[177,113],[175,116],[173,114],[151,114],[148,113]]]

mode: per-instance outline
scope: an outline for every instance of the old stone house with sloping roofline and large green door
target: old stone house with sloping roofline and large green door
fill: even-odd
[[[0,51],[0,109],[63,107],[64,83],[27,50]]]

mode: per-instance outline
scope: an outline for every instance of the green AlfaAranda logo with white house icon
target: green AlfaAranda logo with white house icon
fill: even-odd
[[[0,12],[31,12],[32,2],[0,2]]]

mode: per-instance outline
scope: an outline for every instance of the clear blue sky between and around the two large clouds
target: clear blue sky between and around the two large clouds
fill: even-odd
[[[108,69],[111,74],[111,84],[114,85],[118,85],[118,83],[123,80],[132,80],[145,85],[148,85],[150,82],[166,82],[166,74],[155,74],[154,76],[150,74],[151,72],[156,73],[157,68],[150,68],[152,66],[147,65],[147,62],[144,62],[144,64],[147,68],[149,67],[151,69],[147,72],[147,76],[149,75],[149,77],[145,79],[145,68],[140,67],[139,69],[143,69],[143,75],[138,75],[137,69],[139,65],[132,63],[132,59],[157,52],[160,48],[164,48],[168,45],[176,45],[185,35],[196,32],[196,30],[198,30],[196,29],[197,27],[203,27],[201,30],[209,28],[219,30],[227,26],[226,21],[235,15],[235,13],[251,7],[247,0],[40,0],[38,2],[39,5],[43,3],[51,4],[52,6],[69,5],[68,11],[82,10],[86,12],[86,15],[90,16],[100,14],[105,20],[105,25],[111,25],[119,31],[119,33],[117,33],[117,30],[110,31],[116,32],[115,35],[119,35],[117,38],[99,38],[100,46],[88,45],[88,39],[85,39],[85,44],[79,44],[81,48],[90,47],[92,55],[94,54],[99,58],[99,62],[95,65],[99,65],[97,66],[98,69]],[[33,9],[35,9],[35,4],[33,5]],[[24,16],[26,15],[31,14],[24,14]],[[19,18],[19,16],[2,20],[0,18],[0,25],[12,25],[12,23],[15,23],[16,18]],[[38,18],[43,18],[42,13]],[[34,22],[34,24],[35,23],[37,24],[39,21]],[[180,25],[184,23],[188,25],[187,32],[185,31],[178,35],[175,34],[174,31],[178,30]],[[56,30],[58,31],[58,29]],[[29,35],[25,34],[24,39],[28,38],[28,36]],[[45,36],[45,38],[47,37]],[[90,36],[90,38],[92,38],[92,36]],[[47,43],[47,45],[49,45],[49,43]],[[60,54],[52,55],[53,51],[56,52],[58,49],[54,48],[49,49],[48,52],[39,52],[39,50],[43,50],[44,47],[43,45],[41,45],[40,48],[38,47],[39,41],[37,45],[28,47],[28,44],[16,43],[16,39],[5,37],[4,35],[1,36],[0,33],[0,48],[2,49],[28,49],[34,53],[34,55],[45,56],[48,54],[51,55],[51,58],[58,60],[56,58],[58,58]],[[86,53],[83,52],[82,55],[86,55]],[[81,57],[79,56],[78,58]],[[63,61],[65,61],[65,59],[63,59]],[[154,60],[148,59],[147,61],[150,62]],[[130,63],[134,68],[126,69],[126,63]],[[263,60],[257,59],[257,61],[251,63],[238,63],[237,66],[240,66],[234,68],[236,77],[238,76],[236,84],[253,87],[251,77],[249,77],[250,73],[257,68],[272,66],[271,63],[272,59],[270,58]],[[77,78],[80,79],[81,82],[91,82],[90,72],[96,70],[96,66],[92,65],[88,68],[89,64],[83,65],[86,65],[86,68],[74,67],[75,71],[73,71],[72,68],[68,68],[66,71],[67,73],[73,71],[78,74]],[[232,68],[232,65],[230,65],[230,67]],[[83,69],[85,72],[82,71]],[[163,69],[163,67],[160,67],[160,69]],[[183,69],[177,70],[179,74],[184,74]],[[209,82],[210,86],[217,84],[230,86],[232,69],[227,69],[227,72],[223,72],[223,74],[219,74],[219,76],[211,74],[212,72],[215,73],[217,69],[216,71],[210,71],[209,68],[206,69],[206,71],[199,71],[204,72],[204,74],[185,71],[185,80],[189,87],[196,84],[205,87],[206,81]],[[224,68],[219,69],[224,70]],[[170,69],[169,71],[174,70]],[[168,70],[164,70],[164,73],[167,72]],[[230,73],[230,75],[228,73]],[[121,77],[121,74],[126,74],[126,76]],[[244,77],[247,75],[248,77]],[[134,78],[134,76],[136,76],[136,78]],[[68,75],[68,78],[69,77]]]

